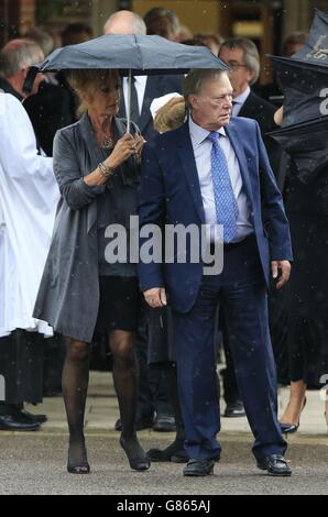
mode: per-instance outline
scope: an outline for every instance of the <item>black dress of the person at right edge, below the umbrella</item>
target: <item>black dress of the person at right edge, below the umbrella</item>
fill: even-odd
[[[328,373],[328,167],[307,185],[291,165],[285,204],[294,263],[288,349],[291,381],[322,387]]]

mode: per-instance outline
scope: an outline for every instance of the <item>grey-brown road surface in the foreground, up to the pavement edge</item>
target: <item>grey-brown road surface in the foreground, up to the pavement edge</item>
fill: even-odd
[[[141,432],[149,448],[164,444],[167,437]],[[209,495],[209,494],[327,494],[328,448],[322,439],[298,438],[288,460],[292,477],[270,477],[254,465],[249,435],[223,435],[223,453],[215,475],[183,477],[182,465],[152,464],[146,472],[128,466],[118,438],[89,431],[91,473],[77,476],[65,471],[67,437],[62,433],[24,433],[0,437],[1,494],[111,494],[111,495]]]

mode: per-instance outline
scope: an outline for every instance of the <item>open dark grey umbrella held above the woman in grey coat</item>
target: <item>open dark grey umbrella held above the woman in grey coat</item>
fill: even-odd
[[[133,75],[186,74],[190,68],[228,70],[227,65],[207,47],[183,45],[161,36],[105,35],[78,45],[57,48],[37,67],[37,72],[72,68],[117,68],[128,76],[131,99]],[[128,131],[130,108],[128,109]]]

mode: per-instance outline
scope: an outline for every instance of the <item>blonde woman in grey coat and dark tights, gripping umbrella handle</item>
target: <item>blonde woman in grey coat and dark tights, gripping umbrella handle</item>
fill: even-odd
[[[136,267],[129,261],[129,250],[127,260],[108,262],[106,231],[110,224],[120,224],[129,242],[143,139],[124,134],[124,121],[116,117],[120,100],[117,72],[73,70],[72,85],[85,113],[77,123],[58,131],[54,142],[54,173],[62,198],[34,317],[67,338],[63,395],[69,427],[68,472],[89,472],[84,415],[95,330],[109,336],[121,447],[131,469],[146,470],[150,462],[135,435]]]

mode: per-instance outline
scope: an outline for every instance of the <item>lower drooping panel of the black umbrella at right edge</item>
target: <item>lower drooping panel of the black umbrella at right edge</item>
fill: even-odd
[[[308,184],[328,164],[328,116],[269,133],[288,153],[299,179]]]

